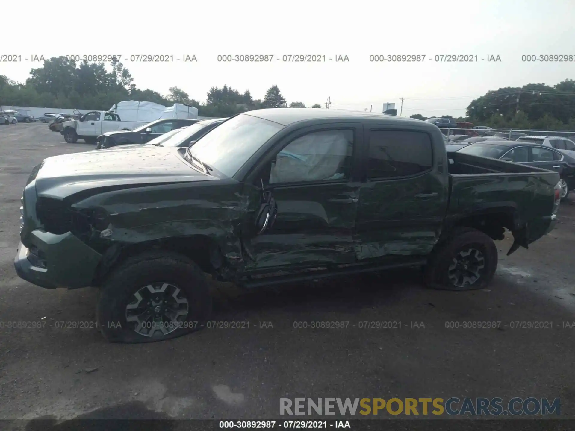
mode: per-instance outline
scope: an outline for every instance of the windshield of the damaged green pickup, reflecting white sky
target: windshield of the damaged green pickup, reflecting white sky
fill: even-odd
[[[233,176],[274,134],[285,126],[248,114],[224,121],[191,147],[202,163]]]

